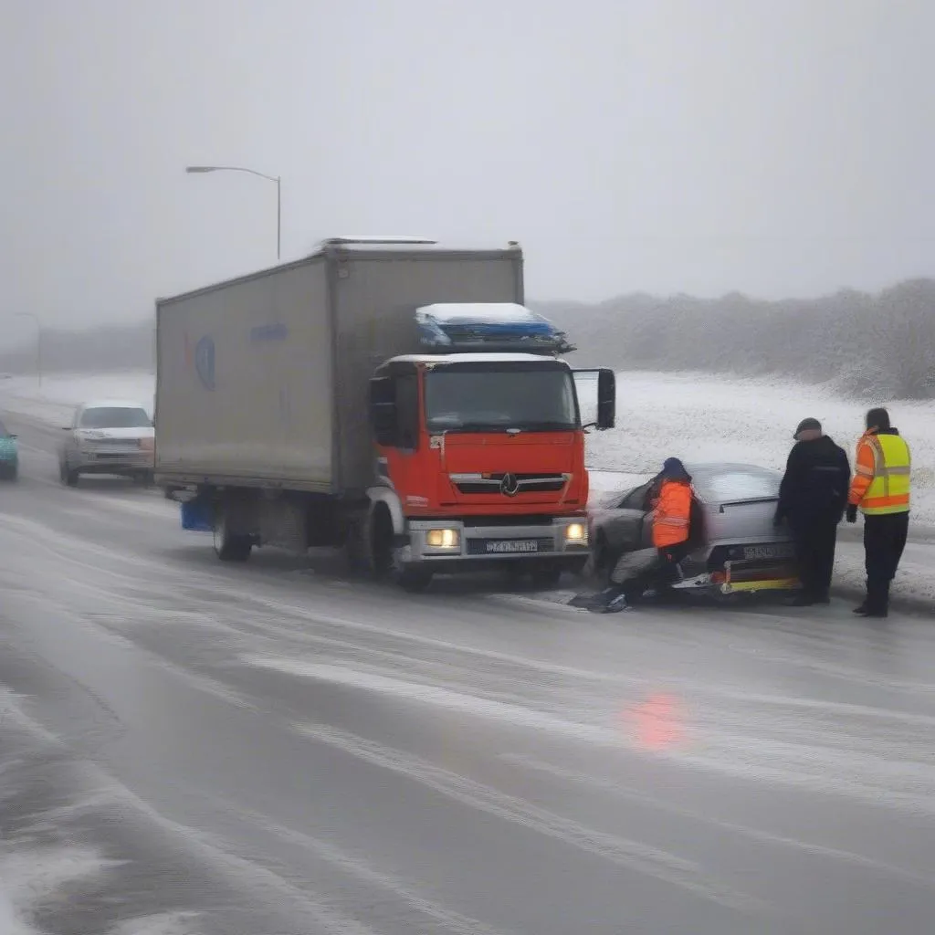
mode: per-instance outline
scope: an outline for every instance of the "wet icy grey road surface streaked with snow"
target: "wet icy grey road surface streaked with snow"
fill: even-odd
[[[8,421],[0,931],[930,935],[930,620],[225,567]]]

